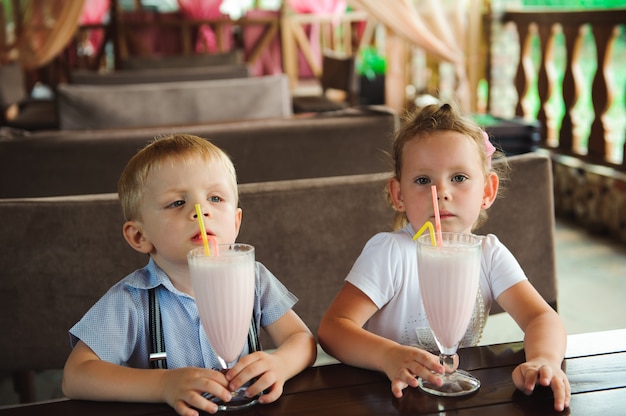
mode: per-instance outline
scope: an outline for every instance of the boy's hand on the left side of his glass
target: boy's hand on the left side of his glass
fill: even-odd
[[[178,368],[166,370],[161,386],[164,401],[181,416],[198,416],[196,409],[216,413],[217,404],[202,396],[209,393],[223,401],[231,399],[226,377],[219,371],[204,368]]]

